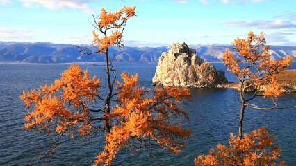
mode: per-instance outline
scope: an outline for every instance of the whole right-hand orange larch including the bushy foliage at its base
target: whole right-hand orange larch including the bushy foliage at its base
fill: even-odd
[[[242,122],[245,108],[273,109],[277,107],[277,98],[281,95],[281,85],[277,82],[277,73],[285,70],[292,62],[292,57],[272,60],[269,46],[265,46],[265,34],[249,32],[247,39],[234,40],[237,57],[228,48],[223,54],[227,70],[236,75],[239,81],[240,119],[238,136],[230,134],[229,147],[218,144],[207,155],[195,158],[195,165],[276,165],[281,148],[274,145],[273,136],[265,127],[242,135]],[[257,96],[272,98],[274,105],[261,107],[251,103]],[[283,161],[280,165],[286,165]]]

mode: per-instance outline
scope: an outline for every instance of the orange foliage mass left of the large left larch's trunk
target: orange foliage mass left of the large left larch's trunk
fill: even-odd
[[[60,79],[50,86],[23,91],[20,98],[24,100],[26,108],[33,107],[24,118],[24,129],[50,133],[55,126],[56,132],[60,133],[73,127],[72,136],[76,131],[85,136],[92,127],[88,104],[94,102],[94,97],[99,93],[99,79],[90,78],[88,71],[81,71],[76,64],[60,75]]]

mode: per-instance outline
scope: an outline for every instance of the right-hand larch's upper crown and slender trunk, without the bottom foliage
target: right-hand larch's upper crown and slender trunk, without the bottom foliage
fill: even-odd
[[[277,73],[285,70],[292,62],[291,56],[283,59],[272,60],[269,46],[265,46],[265,34],[256,35],[252,31],[247,39],[234,40],[234,50],[237,57],[228,48],[223,53],[224,65],[238,78],[238,93],[240,96],[240,120],[238,136],[242,138],[242,122],[245,107],[254,109],[272,109],[277,107],[277,97],[281,94],[281,85],[277,83]],[[241,62],[241,63],[240,63]],[[248,93],[246,93],[248,91]],[[261,93],[263,91],[263,93]],[[250,94],[252,93],[252,94]],[[272,98],[274,106],[260,107],[251,101],[257,96]]]

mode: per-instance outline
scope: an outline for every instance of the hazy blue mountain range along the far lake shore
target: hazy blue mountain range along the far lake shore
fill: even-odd
[[[80,45],[94,51],[96,48],[88,45]],[[225,48],[233,50],[230,45],[208,44],[190,45],[196,50],[197,55],[205,61],[222,61],[222,53]],[[170,46],[162,47],[124,47],[118,50],[111,47],[110,58],[115,62],[158,62],[161,53],[170,49]],[[270,46],[273,59],[279,59],[286,55],[292,55],[296,62],[296,46]],[[28,63],[67,63],[67,62],[104,62],[104,55],[85,55],[79,52],[76,45],[52,44],[52,43],[28,43],[28,42],[0,42],[0,62],[28,62]]]

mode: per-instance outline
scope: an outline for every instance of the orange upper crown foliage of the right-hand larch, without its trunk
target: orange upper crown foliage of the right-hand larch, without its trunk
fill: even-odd
[[[223,61],[224,65],[227,66],[227,71],[234,73],[240,83],[243,84],[248,81],[256,86],[256,90],[260,89],[260,86],[269,84],[270,89],[276,92],[272,93],[272,95],[270,95],[270,92],[264,94],[276,98],[281,94],[281,91],[279,91],[279,84],[275,84],[277,80],[273,75],[290,66],[292,57],[287,56],[283,57],[283,59],[272,60],[269,46],[265,46],[264,35],[263,32],[256,35],[250,31],[247,39],[235,39],[233,45],[238,57],[235,57],[231,50],[227,48],[223,54]],[[238,65],[239,62],[243,62],[242,67]],[[275,85],[277,86],[271,87]]]

